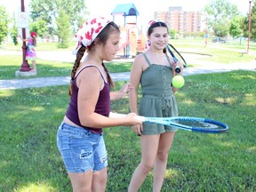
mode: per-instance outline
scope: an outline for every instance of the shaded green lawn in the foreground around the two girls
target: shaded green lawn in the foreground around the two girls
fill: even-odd
[[[163,191],[255,191],[256,74],[233,71],[185,76],[176,94],[180,116],[202,116],[228,124],[223,134],[177,132]],[[124,82],[116,83],[119,88]],[[68,105],[68,87],[0,91],[0,191],[71,191],[56,146]],[[128,100],[112,102],[127,113]],[[127,191],[140,162],[140,137],[129,127],[106,129],[108,189]],[[153,172],[140,191],[150,191]]]

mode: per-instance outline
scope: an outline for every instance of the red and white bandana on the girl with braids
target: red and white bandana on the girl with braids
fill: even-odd
[[[81,28],[76,32],[75,38],[77,40],[76,52],[81,48],[82,44],[88,47],[92,44],[94,39],[100,34],[100,31],[105,28],[110,20],[103,17],[86,20]]]

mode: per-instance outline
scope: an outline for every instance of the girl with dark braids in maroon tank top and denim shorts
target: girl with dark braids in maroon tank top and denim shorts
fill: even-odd
[[[57,145],[73,191],[105,191],[108,156],[103,128],[141,122],[134,113],[109,117],[110,100],[123,99],[129,91],[129,84],[124,84],[120,91],[110,92],[113,82],[103,63],[113,60],[119,50],[120,30],[116,24],[104,18],[87,20],[76,38],[70,100],[57,133]]]

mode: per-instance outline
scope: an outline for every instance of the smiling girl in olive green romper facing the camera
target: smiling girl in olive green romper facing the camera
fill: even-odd
[[[170,117],[178,116],[178,108],[172,88],[174,63],[166,54],[169,43],[169,31],[161,20],[150,20],[148,23],[148,43],[145,52],[138,55],[132,65],[130,83],[130,108],[140,116]],[[138,111],[138,89],[141,85],[142,98]],[[141,184],[154,166],[153,191],[161,191],[169,150],[177,129],[162,124],[143,123],[132,126],[132,131],[140,135],[141,160],[132,175],[129,192],[139,190]]]

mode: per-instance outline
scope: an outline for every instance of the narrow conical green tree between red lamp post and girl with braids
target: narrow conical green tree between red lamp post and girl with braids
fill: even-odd
[[[71,34],[68,14],[64,10],[60,10],[60,16],[56,20],[57,31],[59,35],[59,48],[67,48]]]

